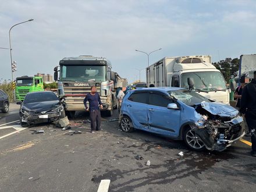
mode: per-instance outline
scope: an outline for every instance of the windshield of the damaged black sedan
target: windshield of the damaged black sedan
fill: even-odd
[[[29,104],[31,102],[44,102],[44,101],[55,101],[59,100],[58,97],[52,92],[37,92],[32,94],[27,94],[23,103]]]

